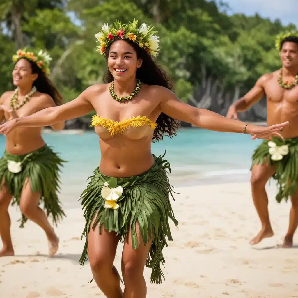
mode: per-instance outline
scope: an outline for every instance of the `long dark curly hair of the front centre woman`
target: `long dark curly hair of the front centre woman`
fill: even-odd
[[[143,48],[140,48],[138,45],[136,45],[133,41],[125,42],[128,42],[128,44],[134,48],[138,59],[142,59],[143,61],[142,66],[136,71],[136,78],[147,85],[158,85],[173,90],[173,85],[170,78],[166,72],[152,59],[151,55],[149,55]],[[108,59],[110,47],[113,43],[114,41],[106,49],[105,59]],[[111,83],[114,81],[114,77],[112,76],[108,67],[105,71],[103,80],[105,83]],[[156,120],[156,124],[157,127],[153,132],[153,142],[163,140],[164,135],[167,135],[170,138],[177,135],[176,132],[179,126],[178,120],[161,113]]]

